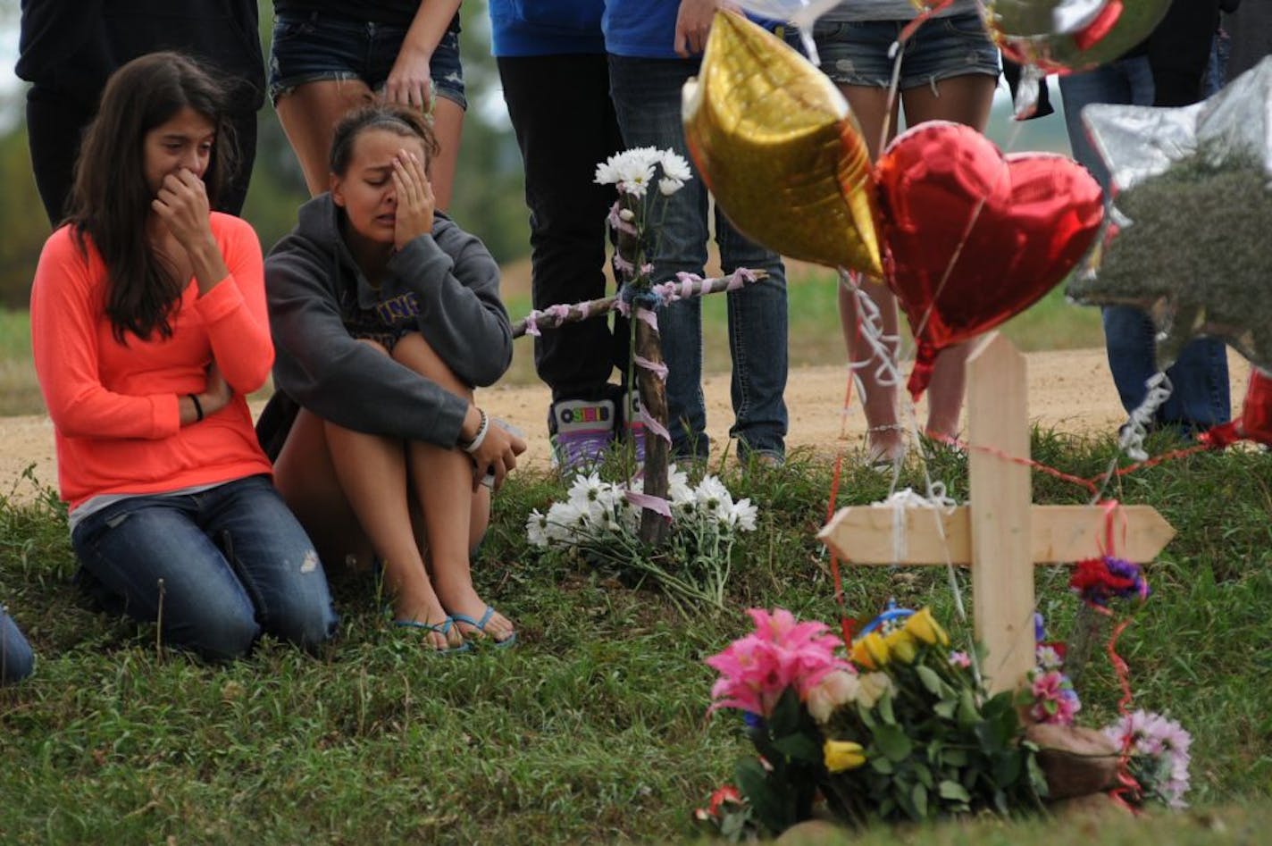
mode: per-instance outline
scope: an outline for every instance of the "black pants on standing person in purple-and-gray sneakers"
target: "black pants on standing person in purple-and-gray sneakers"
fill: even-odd
[[[597,164],[622,149],[604,53],[500,57],[499,76],[525,163],[534,308],[605,295],[605,214],[618,198]],[[595,317],[534,338],[552,399],[603,399],[627,360],[627,323]]]

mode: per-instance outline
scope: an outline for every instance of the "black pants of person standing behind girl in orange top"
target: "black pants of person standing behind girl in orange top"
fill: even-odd
[[[66,212],[75,179],[75,159],[80,139],[95,113],[95,106],[42,85],[27,92],[27,139],[31,144],[31,165],[36,187],[45,204],[48,221],[56,228]],[[243,211],[247,187],[256,160],[256,112],[234,112],[230,116],[235,136],[238,167],[221,191],[218,211],[238,215]]]

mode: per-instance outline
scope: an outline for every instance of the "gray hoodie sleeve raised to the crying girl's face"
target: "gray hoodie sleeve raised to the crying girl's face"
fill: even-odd
[[[499,265],[478,238],[439,219],[389,270],[416,294],[420,333],[455,375],[485,387],[508,371],[513,327],[499,298]]]

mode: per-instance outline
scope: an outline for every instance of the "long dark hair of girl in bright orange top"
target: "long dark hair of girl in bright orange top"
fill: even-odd
[[[154,196],[145,177],[145,140],[150,130],[188,107],[216,131],[204,173],[212,207],[235,167],[226,93],[212,76],[182,53],[159,52],[120,67],[102,92],[75,163],[67,223],[80,248],[85,237],[106,262],[106,313],[116,341],[125,333],[172,337],[172,318],[187,280],[163,260],[146,237]]]

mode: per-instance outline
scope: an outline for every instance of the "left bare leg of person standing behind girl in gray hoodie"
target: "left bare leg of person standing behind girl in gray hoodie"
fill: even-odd
[[[336,123],[351,109],[369,106],[371,89],[361,80],[321,80],[296,85],[279,98],[275,111],[291,142],[309,195],[317,197],[328,188],[331,139]]]

